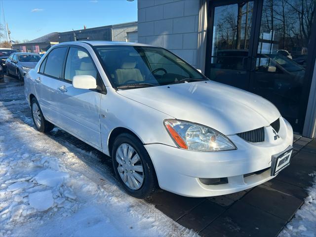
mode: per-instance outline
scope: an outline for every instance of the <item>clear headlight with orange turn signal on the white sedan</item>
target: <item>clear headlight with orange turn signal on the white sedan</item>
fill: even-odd
[[[236,146],[220,132],[200,124],[176,119],[164,120],[169,135],[179,148],[191,151],[228,151]]]

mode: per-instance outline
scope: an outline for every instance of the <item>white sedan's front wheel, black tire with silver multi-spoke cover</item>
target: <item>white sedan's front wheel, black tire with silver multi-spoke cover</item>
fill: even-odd
[[[112,162],[118,181],[129,195],[145,198],[155,191],[154,165],[137,137],[128,133],[118,135],[113,144]]]

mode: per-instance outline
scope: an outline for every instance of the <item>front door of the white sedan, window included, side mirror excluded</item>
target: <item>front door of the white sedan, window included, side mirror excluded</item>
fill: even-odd
[[[77,75],[92,76],[97,79],[99,87],[102,87],[89,53],[82,47],[72,46],[68,51],[64,77],[59,81],[55,98],[56,110],[63,118],[60,125],[88,144],[101,149],[101,93],[73,87],[73,77]]]

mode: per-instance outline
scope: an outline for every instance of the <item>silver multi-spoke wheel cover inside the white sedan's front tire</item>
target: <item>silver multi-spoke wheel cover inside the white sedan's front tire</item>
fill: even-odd
[[[124,184],[132,190],[140,189],[144,181],[144,170],[135,149],[127,143],[121,144],[116,152],[116,161],[118,174]]]

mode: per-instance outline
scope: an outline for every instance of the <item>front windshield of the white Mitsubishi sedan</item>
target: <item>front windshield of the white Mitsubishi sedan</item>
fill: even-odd
[[[207,80],[189,64],[163,48],[148,46],[96,46],[95,48],[110,80],[117,88]]]

